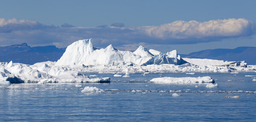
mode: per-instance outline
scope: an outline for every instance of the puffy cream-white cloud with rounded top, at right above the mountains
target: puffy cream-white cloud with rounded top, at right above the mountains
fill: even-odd
[[[247,19],[218,19],[208,22],[175,21],[160,26],[141,27],[148,36],[158,39],[202,39],[209,37],[248,36],[253,22]]]

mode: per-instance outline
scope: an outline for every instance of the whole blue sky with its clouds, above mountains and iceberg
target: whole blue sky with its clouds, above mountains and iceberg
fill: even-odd
[[[93,38],[96,47],[135,50],[142,44],[164,53],[255,47],[255,5],[255,0],[6,0],[0,4],[0,46],[26,42],[66,47]],[[70,26],[61,27],[64,23]]]

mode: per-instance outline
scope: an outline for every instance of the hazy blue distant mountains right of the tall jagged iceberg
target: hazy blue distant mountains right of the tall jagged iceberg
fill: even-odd
[[[235,49],[213,49],[193,52],[184,58],[208,58],[224,61],[246,61],[249,65],[256,64],[256,47],[237,47]]]

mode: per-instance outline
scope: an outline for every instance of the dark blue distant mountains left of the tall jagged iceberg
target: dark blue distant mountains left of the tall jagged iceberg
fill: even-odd
[[[26,43],[0,47],[0,62],[35,64],[43,61],[57,61],[66,48],[52,46],[30,47]]]

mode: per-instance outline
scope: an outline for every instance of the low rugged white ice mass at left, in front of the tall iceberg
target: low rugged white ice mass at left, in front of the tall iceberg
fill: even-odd
[[[78,71],[67,71],[47,61],[34,65],[13,64],[12,61],[0,64],[0,84],[6,83],[86,83],[110,82],[110,78],[89,78]]]

